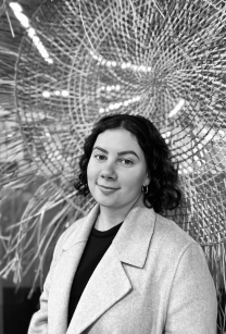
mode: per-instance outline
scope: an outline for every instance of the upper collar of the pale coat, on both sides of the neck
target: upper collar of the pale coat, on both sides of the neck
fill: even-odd
[[[68,250],[74,245],[88,240],[99,212],[100,207],[96,205],[83,220],[79,232],[75,228],[66,238],[63,244],[64,250]],[[143,268],[154,230],[155,217],[154,210],[146,208],[142,197],[140,197],[127,214],[112,243],[121,262]]]

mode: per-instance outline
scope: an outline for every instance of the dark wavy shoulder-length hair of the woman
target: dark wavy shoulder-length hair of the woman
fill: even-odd
[[[78,195],[89,194],[87,166],[98,135],[114,128],[130,132],[143,151],[150,177],[148,193],[143,194],[145,206],[153,208],[155,212],[176,209],[181,198],[178,169],[172,162],[171,151],[156,127],[141,115],[112,114],[103,116],[95,124],[85,140],[84,154],[79,161],[79,181],[75,184]]]

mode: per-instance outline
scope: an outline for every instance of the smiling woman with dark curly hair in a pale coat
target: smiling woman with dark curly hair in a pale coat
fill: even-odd
[[[159,213],[180,201],[153,124],[102,117],[76,188],[97,205],[60,237],[29,334],[215,334],[216,294],[201,247]]]

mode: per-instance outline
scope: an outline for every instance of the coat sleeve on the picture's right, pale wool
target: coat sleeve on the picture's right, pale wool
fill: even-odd
[[[217,300],[198,244],[181,253],[171,289],[165,334],[216,334]]]

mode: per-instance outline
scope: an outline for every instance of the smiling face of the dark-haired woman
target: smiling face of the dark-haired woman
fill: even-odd
[[[87,180],[100,206],[128,212],[139,198],[142,185],[149,184],[137,138],[122,128],[101,133],[93,145]]]

